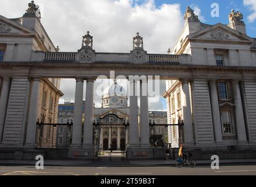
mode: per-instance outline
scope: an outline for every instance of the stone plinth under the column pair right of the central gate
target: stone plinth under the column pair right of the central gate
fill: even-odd
[[[127,160],[152,160],[153,148],[148,147],[128,147]]]

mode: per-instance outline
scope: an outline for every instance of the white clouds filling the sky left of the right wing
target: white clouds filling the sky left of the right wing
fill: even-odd
[[[19,18],[25,13],[28,3],[29,0],[1,0],[1,15]],[[157,7],[154,0],[140,4],[137,0],[37,0],[35,4],[43,5],[41,23],[61,51],[77,51],[82,36],[89,30],[94,36],[96,52],[129,53],[132,37],[140,32],[148,53],[167,53],[184,25],[179,4]],[[195,9],[195,12],[199,10]],[[200,19],[204,20],[203,16]],[[65,98],[74,101],[74,86],[71,88],[71,84],[74,85],[74,81],[63,79],[61,88]],[[159,105],[150,106],[158,109]]]

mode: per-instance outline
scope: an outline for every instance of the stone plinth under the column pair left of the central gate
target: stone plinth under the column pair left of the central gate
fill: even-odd
[[[68,159],[72,160],[94,160],[94,147],[69,148]]]

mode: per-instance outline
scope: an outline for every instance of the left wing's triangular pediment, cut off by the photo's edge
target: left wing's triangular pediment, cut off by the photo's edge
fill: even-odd
[[[0,15],[0,34],[33,34],[33,31]]]

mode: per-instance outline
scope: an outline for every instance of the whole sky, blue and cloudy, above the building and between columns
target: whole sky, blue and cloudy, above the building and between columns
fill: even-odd
[[[1,0],[0,15],[19,18],[27,9],[28,0]],[[256,37],[256,0],[35,0],[40,6],[41,23],[60,51],[77,51],[87,30],[94,36],[96,52],[132,50],[132,37],[139,32],[148,53],[166,54],[174,46],[184,26],[186,6],[191,6],[206,24],[229,23],[231,9],[244,15],[247,34]],[[212,5],[219,6],[219,16],[212,16]],[[214,8],[215,8],[214,7]],[[97,84],[96,84],[97,85]],[[74,102],[75,80],[63,79],[61,91]],[[161,82],[160,93],[165,91]],[[161,94],[160,94],[161,95]],[[101,106],[101,96],[95,96]],[[165,99],[150,102],[150,110],[166,110]]]

